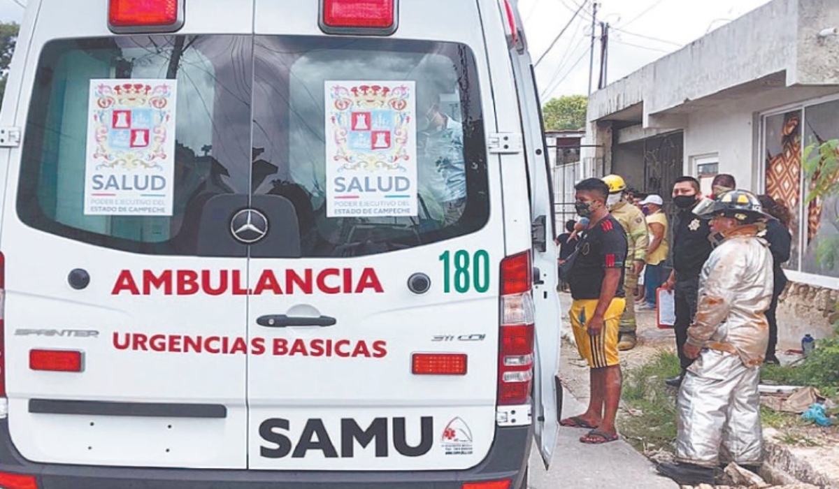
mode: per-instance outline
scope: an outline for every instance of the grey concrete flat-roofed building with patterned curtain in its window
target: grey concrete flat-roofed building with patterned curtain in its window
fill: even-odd
[[[621,174],[669,200],[680,174],[710,190],[712,177],[727,173],[739,187],[789,205],[793,257],[779,306],[780,348],[800,345],[805,332],[826,336],[836,317],[837,34],[836,0],[774,0],[589,101],[591,157],[603,167],[592,174]],[[825,199],[808,199],[814,176],[832,182]]]

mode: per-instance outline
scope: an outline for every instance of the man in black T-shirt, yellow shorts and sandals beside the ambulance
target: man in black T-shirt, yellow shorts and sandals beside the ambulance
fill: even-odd
[[[563,426],[591,428],[580,441],[601,444],[618,440],[615,415],[621,398],[618,361],[618,324],[623,299],[623,263],[627,238],[620,223],[609,214],[608,186],[601,179],[584,179],[575,187],[576,211],[588,217],[585,234],[577,245],[568,282],[571,285],[571,329],[580,355],[590,367],[591,397],[588,409],[563,419]]]

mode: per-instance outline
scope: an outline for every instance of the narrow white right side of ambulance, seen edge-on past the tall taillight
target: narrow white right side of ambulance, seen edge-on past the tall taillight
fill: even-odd
[[[492,25],[490,16],[504,26],[503,34],[485,29],[487,49],[504,52],[493,56],[493,90],[496,96],[499,134],[508,137],[511,149],[502,153],[505,182],[513,180],[515,169],[526,174],[528,198],[517,198],[512,192],[505,200],[508,215],[529,215],[527,223],[508,224],[508,246],[527,242],[533,260],[534,306],[534,383],[533,420],[539,453],[545,466],[550,464],[558,434],[557,413],[561,408],[562,390],[556,373],[559,370],[560,304],[556,294],[556,247],[553,242],[553,197],[550,189],[549,164],[539,114],[539,97],[530,66],[522,21],[514,0],[484,0],[487,11],[484,25]],[[501,8],[498,8],[498,7]],[[503,140],[503,138],[502,138]],[[508,185],[505,185],[505,190]],[[511,189],[512,190],[512,189]],[[516,208],[520,205],[524,209]]]

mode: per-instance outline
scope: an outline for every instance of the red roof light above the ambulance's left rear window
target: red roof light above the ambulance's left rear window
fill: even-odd
[[[175,32],[184,25],[184,0],[110,0],[108,28],[115,33]]]

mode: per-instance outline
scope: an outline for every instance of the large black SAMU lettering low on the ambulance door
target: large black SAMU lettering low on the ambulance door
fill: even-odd
[[[356,444],[366,449],[368,445],[375,446],[377,457],[388,456],[388,438],[393,448],[406,457],[418,457],[431,450],[434,443],[434,419],[423,416],[420,419],[420,443],[411,446],[408,443],[407,421],[404,418],[391,419],[392,430],[388,436],[388,419],[376,418],[367,427],[362,427],[355,419],[341,419],[341,455],[338,455],[333,437],[330,436],[322,419],[309,419],[296,443],[289,438],[291,423],[288,419],[266,419],[259,425],[259,436],[269,445],[259,447],[259,455],[268,459],[281,459],[291,455],[291,458],[305,458],[310,450],[320,451],[326,458],[353,458]],[[415,439],[415,436],[411,437]]]

